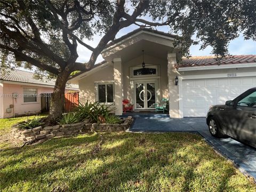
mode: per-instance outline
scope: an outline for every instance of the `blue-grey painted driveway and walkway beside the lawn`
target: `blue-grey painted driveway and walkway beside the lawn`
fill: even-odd
[[[205,118],[169,118],[167,115],[133,115],[131,132],[197,132],[211,143],[223,156],[233,161],[238,169],[256,180],[256,149],[231,138],[211,136]]]

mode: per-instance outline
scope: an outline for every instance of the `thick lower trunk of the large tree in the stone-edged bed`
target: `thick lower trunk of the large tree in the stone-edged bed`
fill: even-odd
[[[46,119],[49,124],[53,124],[58,118],[61,118],[65,101],[65,87],[69,74],[69,71],[62,71],[56,79],[51,96],[50,113]]]

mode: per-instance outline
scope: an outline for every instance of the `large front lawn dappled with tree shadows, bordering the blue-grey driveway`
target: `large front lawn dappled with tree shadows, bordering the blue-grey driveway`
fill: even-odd
[[[94,133],[0,148],[1,191],[256,191],[196,134]]]

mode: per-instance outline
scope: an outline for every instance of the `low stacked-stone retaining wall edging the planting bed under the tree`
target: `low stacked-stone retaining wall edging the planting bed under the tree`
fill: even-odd
[[[35,139],[53,138],[63,135],[71,135],[74,133],[88,133],[91,131],[104,132],[104,131],[125,131],[132,123],[131,116],[124,119],[124,122],[119,124],[108,123],[89,123],[84,121],[81,123],[54,125],[54,126],[39,126],[33,129],[21,129],[19,125],[12,126],[12,134],[15,139],[21,141],[34,141]]]

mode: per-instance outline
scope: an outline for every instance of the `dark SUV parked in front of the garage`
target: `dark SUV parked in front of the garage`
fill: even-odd
[[[256,87],[225,105],[211,106],[206,123],[214,137],[228,135],[256,148]]]

